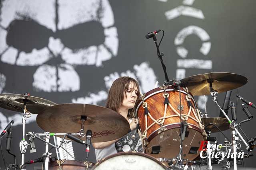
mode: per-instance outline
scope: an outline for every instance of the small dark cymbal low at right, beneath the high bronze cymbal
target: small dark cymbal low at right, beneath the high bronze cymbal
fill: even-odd
[[[205,117],[205,118],[201,118],[202,123],[205,127],[205,131],[211,131],[211,133],[216,133],[216,132],[220,132],[216,127],[214,127],[213,125],[208,125],[209,123],[214,124],[215,126],[217,126],[221,131],[226,131],[228,129],[230,129],[230,125],[228,123],[228,119],[223,118],[223,117]],[[206,125],[208,125],[206,127]]]

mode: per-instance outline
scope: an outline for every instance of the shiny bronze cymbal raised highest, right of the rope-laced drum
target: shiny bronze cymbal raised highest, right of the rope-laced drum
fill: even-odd
[[[187,87],[194,96],[209,95],[209,80],[213,80],[212,88],[218,93],[233,90],[248,82],[246,77],[239,74],[228,72],[210,72],[184,78],[180,80],[180,86],[184,88]]]

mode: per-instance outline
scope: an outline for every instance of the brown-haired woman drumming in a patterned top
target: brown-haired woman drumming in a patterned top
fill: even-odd
[[[138,134],[134,135],[136,124],[132,119],[134,106],[140,96],[139,84],[131,77],[116,79],[108,93],[106,108],[112,109],[122,115],[130,123],[131,132],[120,139],[108,142],[92,143],[95,148],[97,162],[106,156],[117,152],[142,152],[142,143]]]

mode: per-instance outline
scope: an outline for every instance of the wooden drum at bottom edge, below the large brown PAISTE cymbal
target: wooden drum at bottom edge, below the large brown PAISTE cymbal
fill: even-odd
[[[87,162],[77,162],[75,160],[55,160],[50,161],[49,170],[86,170]],[[89,162],[88,170],[95,164]]]

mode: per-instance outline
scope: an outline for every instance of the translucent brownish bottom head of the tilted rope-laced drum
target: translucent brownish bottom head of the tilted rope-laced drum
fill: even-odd
[[[186,136],[182,142],[183,159],[194,160],[199,154],[201,141],[204,141],[200,129],[188,124]],[[168,130],[156,135],[145,149],[146,154],[155,158],[175,158],[180,152],[180,124],[165,126]],[[170,129],[169,129],[170,128]],[[173,129],[172,129],[173,128]]]

